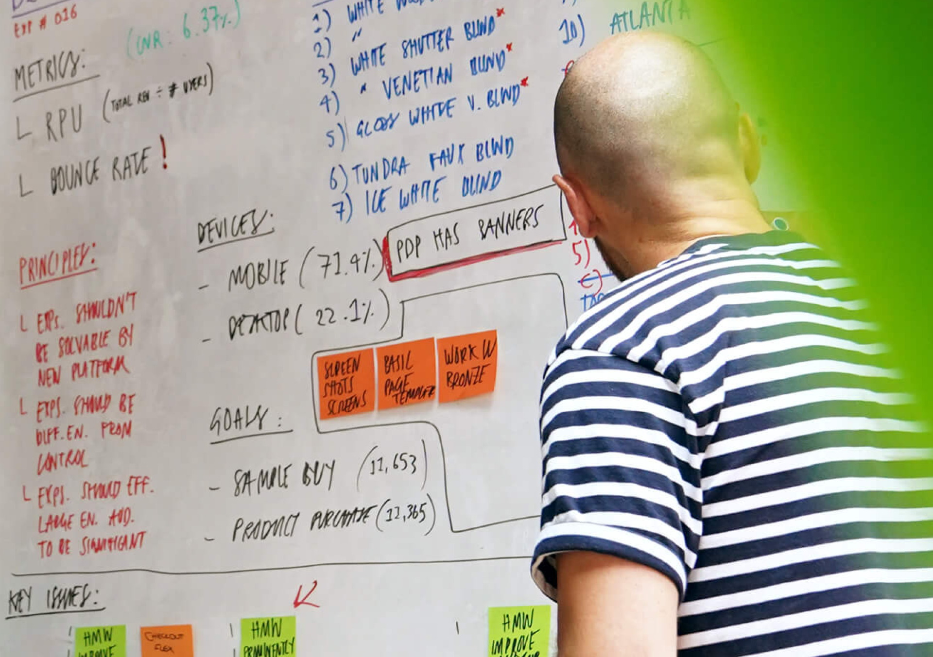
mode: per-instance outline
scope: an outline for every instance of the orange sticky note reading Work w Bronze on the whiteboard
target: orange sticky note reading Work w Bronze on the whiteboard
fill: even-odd
[[[498,354],[495,331],[438,338],[440,403],[495,390]]]

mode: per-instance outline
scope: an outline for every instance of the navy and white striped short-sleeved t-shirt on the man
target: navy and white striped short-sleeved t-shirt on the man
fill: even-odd
[[[677,586],[680,657],[933,655],[933,461],[857,294],[774,231],[585,313],[542,385],[541,590],[614,554]]]

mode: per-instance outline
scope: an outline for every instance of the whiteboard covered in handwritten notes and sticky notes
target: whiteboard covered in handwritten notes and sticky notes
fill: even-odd
[[[7,5],[0,653],[508,654],[533,608],[553,654],[539,381],[614,284],[555,91],[688,36],[786,212],[778,117],[700,0],[215,1]]]

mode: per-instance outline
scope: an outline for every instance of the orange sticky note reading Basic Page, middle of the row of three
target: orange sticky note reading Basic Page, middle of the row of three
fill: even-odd
[[[434,338],[376,349],[379,409],[430,402],[438,391]]]

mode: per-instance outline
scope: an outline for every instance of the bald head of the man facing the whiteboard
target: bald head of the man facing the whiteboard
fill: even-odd
[[[656,205],[672,185],[741,175],[739,112],[700,48],[670,34],[620,34],[582,57],[554,103],[564,176],[609,200]]]

